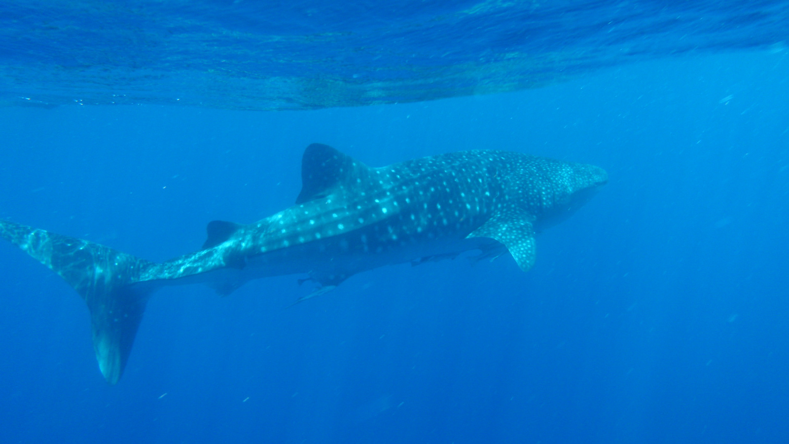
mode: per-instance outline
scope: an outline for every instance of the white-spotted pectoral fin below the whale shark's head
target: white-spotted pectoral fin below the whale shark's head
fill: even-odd
[[[524,213],[499,213],[472,231],[467,239],[486,237],[499,241],[507,247],[518,266],[523,271],[529,271],[537,255],[533,220],[532,216]]]

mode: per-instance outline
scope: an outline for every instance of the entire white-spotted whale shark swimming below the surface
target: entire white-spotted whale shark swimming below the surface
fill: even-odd
[[[215,220],[202,250],[161,264],[7,220],[0,220],[0,236],[82,296],[99,369],[114,384],[158,288],[204,283],[228,295],[248,280],[306,273],[318,287],[298,302],[354,273],[466,250],[481,250],[477,258],[509,251],[526,271],[535,233],[607,181],[600,167],[517,152],[454,152],[373,168],[313,144],[296,205],[249,225]]]

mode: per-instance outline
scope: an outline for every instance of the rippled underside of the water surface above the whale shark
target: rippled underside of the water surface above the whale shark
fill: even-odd
[[[6,0],[0,103],[297,110],[550,85],[789,40],[786,0]]]

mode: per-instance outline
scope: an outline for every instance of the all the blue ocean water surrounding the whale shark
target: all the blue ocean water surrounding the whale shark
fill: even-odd
[[[507,149],[600,165],[611,181],[540,235],[529,273],[509,257],[386,267],[287,309],[310,292],[297,277],[256,280],[226,298],[165,288],[148,304],[117,386],[96,368],[83,301],[2,242],[0,442],[789,442],[785,3],[559,2],[559,14],[468,2],[483,15],[479,28],[459,21],[472,31],[438,41],[409,23],[444,17],[443,2],[335,6],[333,15],[320,6],[264,14],[249,2],[57,3],[98,15],[42,5],[4,6],[17,14],[4,23],[17,28],[0,32],[2,218],[162,261],[200,248],[209,220],[249,223],[292,205],[312,142],[375,166]],[[529,7],[544,40],[491,54],[533,54],[524,49],[532,45],[550,59],[544,77],[499,59],[469,65],[480,57],[464,48],[510,36],[497,30],[525,24],[515,12]],[[247,8],[248,27],[223,8]],[[672,8],[682,9],[681,25],[664,20]],[[193,19],[175,32],[181,46],[168,47],[183,51],[178,68],[162,62],[174,55],[147,31],[151,21],[166,29],[173,10]],[[630,57],[592,39],[607,28],[581,24],[603,23],[601,11],[634,17],[616,42],[657,49]],[[694,11],[701,18],[681,19]],[[42,17],[55,29],[39,26]],[[366,25],[353,28],[358,17]],[[738,21],[702,26],[708,17]],[[368,91],[391,76],[391,96],[365,107],[335,107],[370,102],[327,100],[323,87],[267,96],[238,66],[225,74],[232,88],[198,81],[222,70],[205,40],[186,36],[213,35],[197,23],[209,18],[237,32],[216,38],[239,60],[264,51],[243,40],[264,28],[317,40],[294,38],[296,50],[335,51],[302,57],[283,43],[249,77],[340,79]],[[548,32],[560,18],[567,28]],[[376,40],[391,23],[405,40]],[[28,40],[7,38],[13,29]],[[316,37],[331,32],[349,40]],[[354,49],[384,40],[424,48],[422,57],[368,63]],[[428,55],[448,42],[456,49],[446,66],[463,74],[425,92],[438,78]],[[598,52],[581,55],[584,45]],[[82,50],[104,61],[55,59]],[[298,62],[272,62],[288,51]],[[567,64],[568,54],[589,63]],[[354,83],[359,66],[380,77]],[[467,88],[491,66],[486,88]],[[405,77],[424,80],[425,95],[409,89],[415,83],[401,88]],[[523,89],[529,79],[542,87]],[[492,91],[503,93],[467,96]],[[116,92],[122,99],[110,103]],[[424,101],[437,97],[451,98]],[[69,101],[84,105],[50,106]],[[244,111],[288,107],[323,109]]]

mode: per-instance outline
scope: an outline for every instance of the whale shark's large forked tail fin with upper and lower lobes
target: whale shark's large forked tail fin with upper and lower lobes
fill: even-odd
[[[93,348],[110,384],[123,374],[145,304],[157,285],[156,264],[88,242],[0,220],[0,237],[58,273],[82,296],[91,313]]]

